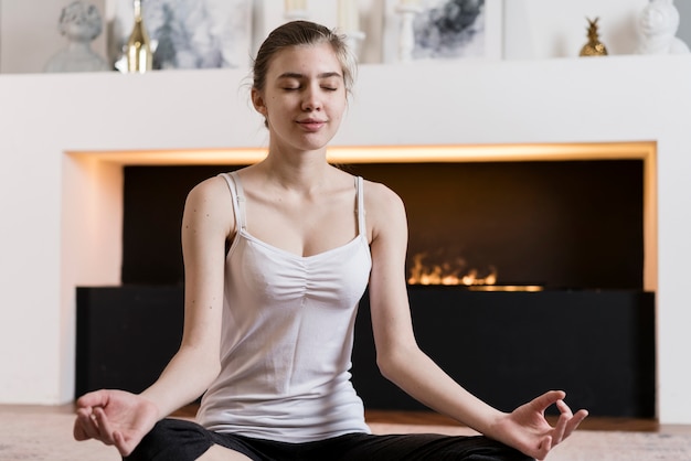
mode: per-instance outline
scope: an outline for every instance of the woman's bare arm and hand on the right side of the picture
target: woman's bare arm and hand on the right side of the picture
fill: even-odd
[[[499,411],[464,389],[421,351],[413,332],[404,272],[405,208],[390,189],[366,184],[372,251],[370,303],[380,371],[429,408],[528,455],[543,459],[552,447],[571,435],[587,411],[573,415],[561,390],[545,393],[510,414]],[[552,427],[544,418],[544,410],[554,404],[561,416]]]

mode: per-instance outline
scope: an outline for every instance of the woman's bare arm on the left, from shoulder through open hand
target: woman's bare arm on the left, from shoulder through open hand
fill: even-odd
[[[95,438],[127,455],[156,421],[206,390],[220,372],[225,242],[234,232],[225,181],[213,178],[196,185],[182,218],[185,290],[180,349],[156,383],[138,396],[105,389],[81,397],[77,440]]]

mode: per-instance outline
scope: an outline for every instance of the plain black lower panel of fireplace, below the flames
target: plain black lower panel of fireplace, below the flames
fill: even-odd
[[[653,293],[443,286],[412,286],[408,293],[423,351],[491,405],[511,410],[563,388],[593,416],[655,417]],[[365,293],[355,323],[355,389],[369,409],[424,410],[379,373],[369,315]],[[77,288],[75,396],[143,390],[176,352],[182,322],[181,286]]]

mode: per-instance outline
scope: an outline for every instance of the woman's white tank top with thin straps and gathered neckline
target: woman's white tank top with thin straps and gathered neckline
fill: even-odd
[[[222,176],[237,233],[225,260],[222,371],[202,398],[198,421],[286,442],[370,432],[350,380],[355,314],[372,267],[362,178],[353,187],[358,235],[302,257],[253,237],[237,175]]]

